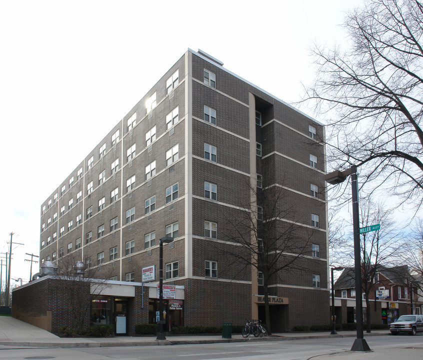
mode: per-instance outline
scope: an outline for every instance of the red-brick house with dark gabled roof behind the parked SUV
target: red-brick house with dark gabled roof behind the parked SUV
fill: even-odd
[[[345,268],[334,283],[335,314],[337,323],[355,321],[355,279],[354,268]],[[372,323],[390,323],[399,315],[408,314],[410,309],[410,279],[408,266],[385,267],[378,270],[371,284],[368,298],[370,300],[370,318]],[[364,287],[363,287],[364,288]],[[363,320],[365,321],[366,304],[364,290],[359,294],[363,302]],[[416,294],[413,296],[416,301]],[[330,301],[331,305],[331,301]],[[420,311],[417,306],[416,311]]]

